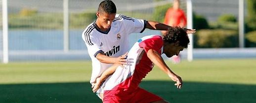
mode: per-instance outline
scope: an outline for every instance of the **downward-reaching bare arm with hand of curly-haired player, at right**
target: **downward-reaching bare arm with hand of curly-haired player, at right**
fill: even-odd
[[[162,71],[164,71],[168,76],[175,81],[176,83],[174,85],[177,86],[177,88],[181,88],[182,86],[182,79],[181,77],[177,76],[174,74],[171,69],[166,65],[164,59],[162,56],[156,52],[155,50],[151,49],[147,52],[148,58],[155,64],[157,65]]]

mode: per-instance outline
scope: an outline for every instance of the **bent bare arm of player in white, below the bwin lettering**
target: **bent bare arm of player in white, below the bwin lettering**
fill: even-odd
[[[121,55],[119,57],[109,57],[105,54],[98,53],[96,55],[96,58],[102,62],[102,63],[107,63],[107,64],[126,64],[127,60],[126,60],[126,56],[128,53],[125,53],[124,55]]]

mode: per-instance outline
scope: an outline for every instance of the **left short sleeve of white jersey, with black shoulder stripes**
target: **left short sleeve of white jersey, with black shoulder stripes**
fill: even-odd
[[[93,56],[96,57],[96,55],[98,53],[103,52],[100,49],[101,42],[100,42],[99,38],[97,37],[97,35],[93,31],[88,31],[85,29],[85,31],[82,34],[82,38],[85,42],[85,45],[87,47],[90,57],[93,57]]]

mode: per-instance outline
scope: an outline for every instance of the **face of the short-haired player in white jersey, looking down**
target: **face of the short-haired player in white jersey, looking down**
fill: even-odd
[[[116,13],[96,12],[96,15],[98,17],[97,26],[99,26],[100,30],[107,31],[115,20]]]

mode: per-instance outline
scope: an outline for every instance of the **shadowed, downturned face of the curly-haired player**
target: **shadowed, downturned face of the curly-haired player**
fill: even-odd
[[[184,47],[178,46],[177,43],[172,44],[172,45],[169,45],[169,46],[167,46],[166,48],[167,48],[167,49],[166,49],[165,54],[166,54],[167,57],[171,57],[171,56],[173,56],[173,55],[178,55],[179,52],[180,52],[180,51],[183,51],[183,49],[184,49]]]

